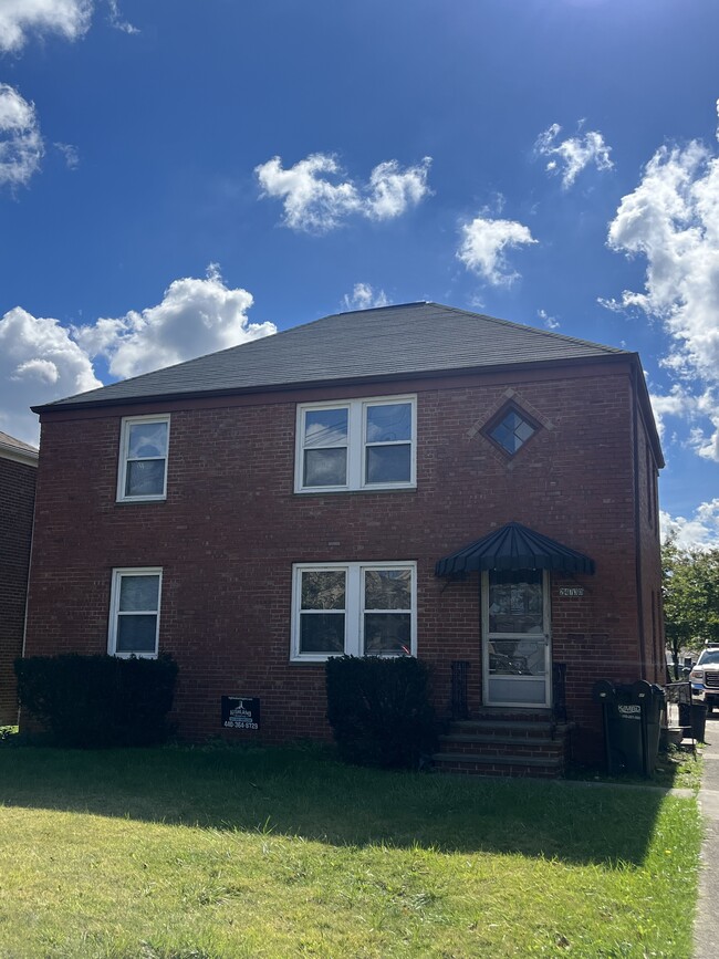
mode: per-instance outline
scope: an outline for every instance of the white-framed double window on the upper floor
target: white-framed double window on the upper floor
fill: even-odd
[[[295,492],[416,486],[416,396],[298,407]]]

